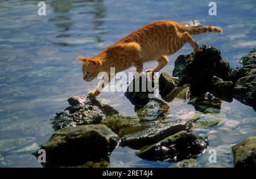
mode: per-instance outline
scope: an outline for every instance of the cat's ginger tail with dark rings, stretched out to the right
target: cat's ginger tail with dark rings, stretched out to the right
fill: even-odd
[[[197,35],[200,33],[207,33],[207,32],[218,32],[218,33],[222,32],[222,29],[216,26],[187,27],[185,25],[179,24],[177,25],[177,29],[179,30],[179,32],[188,32],[191,35]]]

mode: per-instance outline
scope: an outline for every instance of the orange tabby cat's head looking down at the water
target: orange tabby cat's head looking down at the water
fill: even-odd
[[[86,82],[90,82],[101,72],[102,62],[100,59],[87,57],[79,57],[78,59],[84,62],[82,64],[82,74],[84,75],[82,78]]]

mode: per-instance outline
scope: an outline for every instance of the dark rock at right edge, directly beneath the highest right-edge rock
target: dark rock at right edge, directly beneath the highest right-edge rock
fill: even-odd
[[[228,80],[235,84],[238,79],[251,75],[256,75],[256,64],[237,67],[229,73]]]

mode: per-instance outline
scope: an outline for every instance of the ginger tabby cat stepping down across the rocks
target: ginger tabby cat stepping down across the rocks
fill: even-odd
[[[102,50],[97,56],[79,57],[79,60],[84,62],[82,65],[83,78],[89,82],[96,78],[98,73],[105,71],[109,74],[110,82],[110,67],[115,67],[115,73],[118,73],[135,66],[136,71],[141,73],[143,62],[155,59],[158,61],[158,65],[146,72],[159,71],[168,63],[167,56],[177,52],[186,42],[193,47],[194,53],[199,52],[199,46],[191,35],[206,32],[222,32],[222,29],[214,26],[185,27],[183,24],[171,20],[149,23]],[[101,84],[99,83],[102,88],[104,88],[103,80],[101,80]],[[89,96],[92,97],[99,94],[100,91],[97,88],[89,92]]]

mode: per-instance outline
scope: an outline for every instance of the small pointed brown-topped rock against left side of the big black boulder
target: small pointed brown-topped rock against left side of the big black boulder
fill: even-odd
[[[173,77],[166,72],[163,72],[159,76],[159,91],[161,95],[167,95],[175,87],[179,86],[179,78]]]

